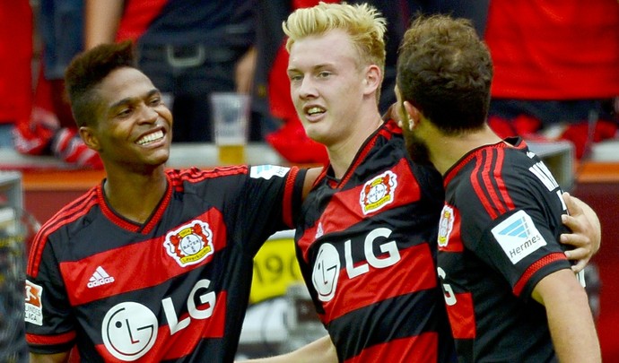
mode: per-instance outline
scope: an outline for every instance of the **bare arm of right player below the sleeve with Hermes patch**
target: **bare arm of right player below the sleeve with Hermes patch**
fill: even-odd
[[[562,363],[602,361],[587,293],[574,272],[562,269],[545,276],[532,297],[545,306],[554,350]]]

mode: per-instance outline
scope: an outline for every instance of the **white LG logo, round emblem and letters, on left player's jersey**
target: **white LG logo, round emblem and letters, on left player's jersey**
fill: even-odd
[[[168,320],[170,335],[187,328],[191,319],[207,319],[213,315],[215,307],[214,291],[205,292],[211,281],[200,280],[187,297],[189,316],[179,321],[172,298],[163,298],[161,306]],[[201,293],[201,295],[198,295]],[[196,307],[195,298],[200,307]],[[103,343],[109,353],[117,359],[134,361],[144,356],[157,340],[159,322],[150,308],[142,304],[126,301],[109,309],[101,324]]]

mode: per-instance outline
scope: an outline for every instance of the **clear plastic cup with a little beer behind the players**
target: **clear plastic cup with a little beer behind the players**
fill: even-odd
[[[220,165],[245,163],[248,143],[249,105],[247,94],[214,92],[210,95],[213,109],[214,142]]]

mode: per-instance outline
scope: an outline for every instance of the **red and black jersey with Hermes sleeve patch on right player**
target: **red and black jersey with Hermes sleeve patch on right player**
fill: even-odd
[[[570,268],[561,187],[520,139],[480,147],[445,174],[439,276],[461,362],[555,361],[536,283]],[[513,146],[513,147],[512,147]]]

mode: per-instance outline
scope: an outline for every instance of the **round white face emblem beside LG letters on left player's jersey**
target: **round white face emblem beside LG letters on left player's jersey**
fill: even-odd
[[[134,361],[153,348],[158,327],[157,318],[148,307],[123,302],[105,315],[101,335],[111,355],[120,360]]]

